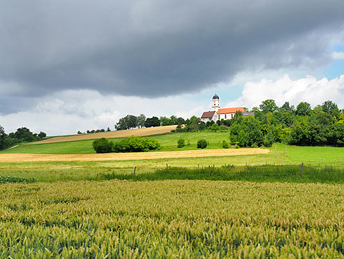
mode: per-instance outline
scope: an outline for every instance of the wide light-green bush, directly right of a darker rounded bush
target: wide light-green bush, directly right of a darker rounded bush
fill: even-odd
[[[145,152],[159,147],[160,144],[157,140],[131,136],[129,138],[124,138],[124,140],[120,140],[119,142],[115,142],[113,145],[113,151],[116,153]]]

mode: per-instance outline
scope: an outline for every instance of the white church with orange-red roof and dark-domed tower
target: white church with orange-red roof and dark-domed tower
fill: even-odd
[[[233,119],[234,114],[239,111],[243,112],[243,116],[255,116],[255,112],[245,112],[243,107],[236,107],[236,108],[220,108],[220,97],[215,94],[213,96],[213,110],[209,112],[203,112],[201,116],[201,120],[203,122],[207,121],[220,121],[222,119]]]

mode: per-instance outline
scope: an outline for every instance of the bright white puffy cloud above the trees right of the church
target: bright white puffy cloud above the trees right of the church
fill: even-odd
[[[325,77],[317,80],[310,75],[292,80],[288,75],[284,75],[275,81],[263,79],[260,82],[247,82],[241,96],[226,106],[253,108],[266,99],[275,100],[279,106],[286,101],[292,105],[306,101],[313,107],[331,100],[337,103],[339,108],[344,108],[344,75],[332,80]]]

